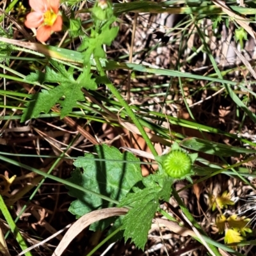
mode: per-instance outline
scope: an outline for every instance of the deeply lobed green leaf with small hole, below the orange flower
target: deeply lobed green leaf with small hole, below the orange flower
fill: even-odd
[[[51,90],[42,90],[42,92],[33,95],[32,100],[27,104],[28,108],[24,109],[22,122],[30,118],[36,118],[41,112],[48,113],[57,102],[60,102],[62,107],[61,118],[63,118],[76,106],[77,100],[84,100],[81,88],[87,90],[97,89],[97,84],[95,79],[92,79],[89,65],[84,67],[83,72],[77,79],[74,79],[74,68],[66,70],[64,65],[56,61],[51,61],[51,64],[56,71],[50,67],[45,67],[44,73],[36,70],[35,73],[31,73],[26,77],[26,81],[38,81],[41,84],[45,82],[56,83],[58,81],[59,85],[54,86]]]

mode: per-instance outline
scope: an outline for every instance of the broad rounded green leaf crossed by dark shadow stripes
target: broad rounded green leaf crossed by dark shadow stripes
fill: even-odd
[[[122,154],[115,147],[97,145],[95,150],[97,156],[85,154],[84,157],[79,157],[74,162],[77,169],[72,172],[72,177],[68,181],[115,200],[122,200],[143,178],[140,164],[132,163],[138,160],[131,153]],[[98,159],[103,161],[95,161]],[[128,163],[122,161],[128,161]],[[83,172],[79,168],[83,168]],[[113,203],[102,200],[98,196],[82,193],[70,187],[68,189],[68,194],[77,198],[72,202],[68,211],[75,214],[77,218],[95,209],[114,206]],[[102,225],[100,228],[104,227],[106,225]]]

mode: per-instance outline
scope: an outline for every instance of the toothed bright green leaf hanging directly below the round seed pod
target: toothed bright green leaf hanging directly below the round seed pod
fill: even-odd
[[[169,200],[172,183],[173,179],[165,173],[149,175],[143,179],[143,184],[148,186],[147,188],[136,190],[136,193],[129,193],[120,202],[119,207],[133,207],[122,221],[125,241],[131,238],[138,248],[144,248],[159,199]]]

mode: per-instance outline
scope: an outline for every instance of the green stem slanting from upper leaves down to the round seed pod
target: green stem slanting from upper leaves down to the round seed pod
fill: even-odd
[[[131,117],[132,122],[134,122],[134,125],[136,125],[136,127],[139,129],[141,136],[143,137],[143,139],[146,141],[148,148],[150,148],[152,154],[154,156],[158,156],[156,149],[154,148],[154,145],[152,144],[152,142],[150,141],[150,139],[148,138],[148,134],[147,132],[144,131],[142,125],[140,124],[140,121],[138,120],[138,118],[136,117],[136,115],[133,113],[132,109],[130,108],[129,104],[124,100],[124,98],[122,97],[122,95],[118,92],[118,90],[116,90],[115,86],[109,81],[108,77],[106,76],[99,58],[95,57],[94,58],[95,63],[96,63],[96,68],[100,74],[100,76],[102,77],[106,77],[106,86],[109,88],[109,90],[111,91],[111,93],[113,93],[113,95],[116,97],[116,99],[118,99],[118,101],[120,102],[120,104],[124,107],[124,109],[127,111],[127,114]]]

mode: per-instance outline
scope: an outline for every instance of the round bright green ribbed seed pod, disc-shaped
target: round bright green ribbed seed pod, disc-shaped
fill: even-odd
[[[172,150],[164,157],[163,169],[174,179],[184,179],[192,174],[191,157],[183,150]]]

